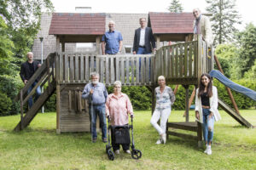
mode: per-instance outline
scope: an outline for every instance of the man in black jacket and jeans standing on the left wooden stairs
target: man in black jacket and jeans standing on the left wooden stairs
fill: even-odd
[[[33,74],[38,70],[38,68],[41,66],[41,64],[38,61],[33,60],[33,54],[32,52],[28,52],[26,54],[27,61],[25,63],[22,63],[20,68],[20,77],[24,84],[29,81],[29,79],[33,76]],[[31,87],[28,88],[27,94],[30,94],[32,89],[37,85],[39,81],[39,77],[35,80],[35,82],[32,83]],[[38,86],[36,89],[36,97],[35,102],[41,95],[41,87]],[[32,96],[28,99],[28,106],[29,108],[32,108]]]

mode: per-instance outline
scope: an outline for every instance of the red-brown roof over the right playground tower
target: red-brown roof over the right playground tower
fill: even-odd
[[[148,17],[153,34],[193,33],[192,13],[149,13]]]

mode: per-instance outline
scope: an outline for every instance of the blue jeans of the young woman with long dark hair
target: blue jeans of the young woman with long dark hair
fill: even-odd
[[[206,144],[212,142],[213,138],[213,127],[214,127],[214,116],[209,118],[211,111],[209,109],[202,108],[203,111],[203,133]]]

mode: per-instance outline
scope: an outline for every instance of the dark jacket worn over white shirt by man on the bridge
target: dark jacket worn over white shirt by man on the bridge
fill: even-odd
[[[138,28],[135,31],[135,34],[134,34],[134,41],[133,41],[133,48],[132,48],[132,51],[136,51],[136,53],[137,53],[137,50],[139,48],[140,37],[141,37],[141,28]],[[146,30],[145,30],[145,49],[146,49],[146,52],[148,52],[148,53],[152,52],[151,46],[152,46],[152,48],[155,48],[155,40],[154,40],[153,32],[152,32],[152,29],[150,27],[146,27]]]

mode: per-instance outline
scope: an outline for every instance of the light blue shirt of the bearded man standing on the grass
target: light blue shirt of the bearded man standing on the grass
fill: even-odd
[[[90,89],[93,89],[93,94],[90,95]],[[108,91],[102,82],[98,82],[96,86],[90,82],[84,87],[82,94],[83,99],[88,99],[89,104],[91,104],[91,99],[93,105],[103,105],[106,103],[108,97]]]

